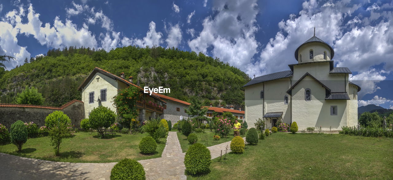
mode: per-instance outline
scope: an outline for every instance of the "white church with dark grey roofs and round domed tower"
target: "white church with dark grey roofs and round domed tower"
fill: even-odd
[[[316,127],[341,130],[358,124],[360,86],[348,80],[347,67],[334,67],[333,48],[312,36],[295,50],[296,64],[287,71],[253,78],[245,84],[245,118],[249,127],[263,119],[298,124],[298,131]]]

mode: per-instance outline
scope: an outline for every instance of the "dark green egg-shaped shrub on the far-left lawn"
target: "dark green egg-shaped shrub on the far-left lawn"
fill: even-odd
[[[22,145],[26,143],[28,131],[26,125],[21,120],[18,120],[11,125],[11,142],[18,147],[18,151],[22,150]]]

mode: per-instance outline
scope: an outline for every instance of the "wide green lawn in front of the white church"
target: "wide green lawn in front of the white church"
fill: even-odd
[[[274,133],[188,179],[391,179],[393,139]]]

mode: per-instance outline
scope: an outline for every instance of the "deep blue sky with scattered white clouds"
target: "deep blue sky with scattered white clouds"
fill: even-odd
[[[393,109],[392,0],[0,1],[0,54],[66,46],[160,45],[217,56],[250,77],[288,69],[313,35],[362,87],[359,105]]]

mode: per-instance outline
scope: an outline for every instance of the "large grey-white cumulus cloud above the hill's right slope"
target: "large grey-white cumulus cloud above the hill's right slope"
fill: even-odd
[[[196,53],[212,53],[224,62],[246,69],[258,47],[255,40],[258,29],[256,0],[216,1],[213,11],[217,13],[204,19],[199,36],[188,41],[190,49]],[[192,35],[194,31],[187,33]],[[212,47],[210,52],[208,47]]]

